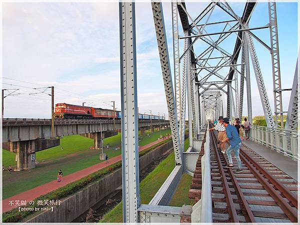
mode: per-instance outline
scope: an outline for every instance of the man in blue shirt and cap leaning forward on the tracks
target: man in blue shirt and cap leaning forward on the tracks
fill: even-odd
[[[226,154],[227,154],[227,157],[229,160],[229,165],[227,165],[226,167],[233,168],[231,151],[234,151],[234,156],[236,158],[237,166],[238,166],[238,168],[235,170],[235,172],[242,172],[241,161],[239,158],[239,148],[241,145],[241,140],[239,138],[236,128],[229,124],[229,119],[227,117],[223,119],[223,124],[226,129],[227,137],[225,139],[223,139],[222,142],[229,140],[229,143],[230,143],[230,146],[226,150]]]

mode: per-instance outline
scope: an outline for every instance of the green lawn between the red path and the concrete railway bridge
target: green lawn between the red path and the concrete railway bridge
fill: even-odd
[[[170,129],[161,130],[162,135],[168,132]],[[159,135],[160,131],[156,131],[150,134],[150,138],[143,136],[139,145],[153,142]],[[112,152],[112,147],[120,146],[120,140],[120,133],[104,139],[104,145],[110,144],[108,149],[103,148],[103,152],[107,153],[109,158],[121,154],[121,149]],[[60,140],[59,146],[36,152],[36,160],[39,163],[34,169],[19,172],[4,171],[2,173],[2,199],[56,179],[58,169],[62,169],[63,175],[68,175],[103,161],[99,160],[100,150],[90,150],[91,145],[93,145],[93,140],[90,138],[80,135],[65,136]],[[15,153],[2,150],[2,163],[5,166],[14,165],[14,157]]]

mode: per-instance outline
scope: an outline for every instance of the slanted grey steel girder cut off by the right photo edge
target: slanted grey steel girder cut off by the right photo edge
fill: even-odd
[[[292,82],[292,88],[289,98],[285,129],[297,130],[298,128],[298,61],[296,63],[296,69],[294,79]]]

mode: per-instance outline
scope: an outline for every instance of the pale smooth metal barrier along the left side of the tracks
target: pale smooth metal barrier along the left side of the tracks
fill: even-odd
[[[201,157],[201,199],[192,206],[191,222],[212,222],[210,141],[208,128],[207,125],[204,155]]]

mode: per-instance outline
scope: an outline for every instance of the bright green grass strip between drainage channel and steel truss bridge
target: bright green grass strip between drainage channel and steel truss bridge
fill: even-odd
[[[175,167],[174,152],[158,164],[141,182],[140,198],[142,204],[148,204],[159,187]],[[99,222],[122,222],[122,201],[107,212]]]

